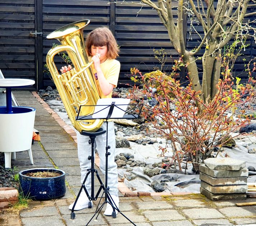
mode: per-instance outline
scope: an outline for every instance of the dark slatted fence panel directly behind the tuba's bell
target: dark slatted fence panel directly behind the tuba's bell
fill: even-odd
[[[84,28],[84,35],[100,26],[110,25],[110,5],[108,0],[43,0],[43,59],[53,44],[60,44],[58,40],[48,40],[46,36],[54,30],[75,21],[89,19],[90,24]],[[55,64],[58,69],[65,62],[56,56]],[[44,67],[44,85],[52,85],[50,74]]]

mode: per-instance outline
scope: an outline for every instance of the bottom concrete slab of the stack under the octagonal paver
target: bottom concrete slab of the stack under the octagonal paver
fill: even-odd
[[[246,193],[214,194],[202,187],[200,188],[200,192],[212,201],[227,199],[246,199]]]

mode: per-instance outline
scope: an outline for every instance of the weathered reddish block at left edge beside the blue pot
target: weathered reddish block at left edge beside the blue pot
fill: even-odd
[[[19,192],[15,188],[0,188],[0,209],[18,202]]]

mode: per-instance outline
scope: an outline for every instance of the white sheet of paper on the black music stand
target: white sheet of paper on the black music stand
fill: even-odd
[[[122,118],[125,114],[127,105],[129,104],[130,99],[125,98],[102,98],[97,101],[97,105],[92,115],[93,119],[103,119],[106,118],[108,112],[110,111],[110,105],[114,103],[118,107],[114,107],[112,115],[110,118]],[[104,105],[104,106],[100,106]],[[104,109],[106,108],[106,109]],[[103,109],[103,110],[102,110]]]

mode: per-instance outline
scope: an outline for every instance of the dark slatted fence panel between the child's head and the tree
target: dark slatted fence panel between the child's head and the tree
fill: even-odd
[[[115,37],[120,45],[118,60],[121,62],[122,83],[130,82],[127,76],[130,68],[138,68],[143,73],[160,69],[162,65],[155,58],[157,56],[159,60],[165,61],[162,70],[168,72],[173,59],[178,57],[157,11],[142,6],[140,1],[130,4],[117,1]]]

